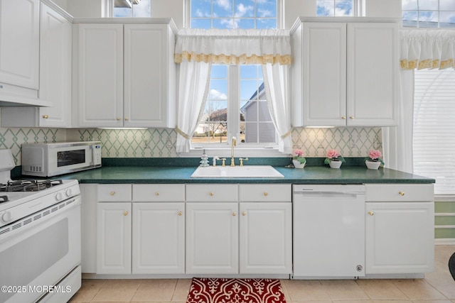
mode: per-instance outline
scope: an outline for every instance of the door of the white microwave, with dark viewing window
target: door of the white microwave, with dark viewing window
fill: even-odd
[[[83,170],[92,165],[92,145],[49,145],[48,176]]]

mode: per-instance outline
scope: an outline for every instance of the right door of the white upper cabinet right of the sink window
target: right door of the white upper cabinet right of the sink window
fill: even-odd
[[[348,23],[348,126],[395,126],[397,23]]]

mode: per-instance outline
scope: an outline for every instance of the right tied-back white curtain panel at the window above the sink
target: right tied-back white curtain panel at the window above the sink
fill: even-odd
[[[265,95],[272,121],[280,136],[278,150],[292,152],[291,109],[289,104],[289,65],[262,65]]]

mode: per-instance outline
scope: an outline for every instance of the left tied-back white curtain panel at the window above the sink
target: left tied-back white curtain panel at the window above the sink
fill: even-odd
[[[177,153],[190,151],[191,136],[203,115],[211,67],[211,63],[181,62],[176,126]]]

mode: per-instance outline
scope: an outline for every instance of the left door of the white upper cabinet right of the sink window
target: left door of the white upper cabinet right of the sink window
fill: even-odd
[[[346,125],[346,23],[303,24],[303,125]]]

